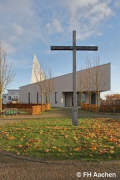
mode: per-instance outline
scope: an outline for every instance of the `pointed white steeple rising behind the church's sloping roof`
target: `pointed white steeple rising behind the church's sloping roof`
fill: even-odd
[[[31,84],[37,81],[43,81],[45,79],[44,74],[41,70],[40,64],[37,60],[36,55],[34,54],[33,59],[33,67],[32,67],[32,77],[31,77]]]

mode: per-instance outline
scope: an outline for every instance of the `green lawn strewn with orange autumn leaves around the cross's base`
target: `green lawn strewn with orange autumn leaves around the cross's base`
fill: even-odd
[[[120,122],[81,118],[46,118],[0,127],[0,149],[43,159],[111,160],[120,156]]]

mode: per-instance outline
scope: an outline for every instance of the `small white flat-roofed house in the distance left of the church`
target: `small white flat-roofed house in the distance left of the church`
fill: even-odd
[[[7,89],[7,93],[2,95],[3,104],[10,103],[12,101],[19,101],[19,90],[18,89]]]

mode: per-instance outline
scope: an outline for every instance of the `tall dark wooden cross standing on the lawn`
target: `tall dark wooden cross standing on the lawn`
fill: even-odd
[[[98,46],[76,46],[76,31],[73,31],[73,46],[51,46],[51,50],[73,51],[73,109],[72,125],[78,125],[77,92],[76,92],[76,50],[97,51]]]

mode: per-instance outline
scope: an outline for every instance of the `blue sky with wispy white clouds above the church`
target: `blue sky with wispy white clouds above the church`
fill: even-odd
[[[0,41],[16,76],[10,89],[30,83],[33,56],[59,76],[72,72],[72,52],[51,45],[97,45],[97,52],[77,52],[77,70],[87,57],[111,63],[111,91],[120,93],[120,0],[0,0]],[[107,94],[106,92],[105,94]]]

